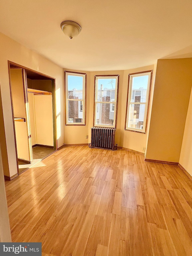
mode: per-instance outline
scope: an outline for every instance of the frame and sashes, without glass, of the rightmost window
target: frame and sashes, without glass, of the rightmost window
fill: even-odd
[[[129,74],[128,78],[128,97],[127,97],[127,113],[126,113],[126,120],[125,120],[125,130],[126,131],[136,131],[140,133],[146,134],[146,128],[147,128],[147,116],[148,116],[148,111],[149,111],[149,98],[150,98],[150,90],[151,90],[151,82],[152,82],[152,73],[153,71],[143,71],[140,73],[135,73],[135,74]],[[141,77],[141,76],[146,76],[148,75],[148,85],[147,85],[147,93],[146,93],[146,102],[131,102],[132,98],[132,86],[133,86],[133,78],[134,77]],[[131,104],[144,104],[145,105],[145,113],[144,113],[144,121],[143,121],[143,129],[139,128],[130,128],[128,127],[128,123],[130,120],[130,105]]]

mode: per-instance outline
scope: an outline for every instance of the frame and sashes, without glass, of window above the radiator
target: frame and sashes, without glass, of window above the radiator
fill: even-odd
[[[115,79],[116,80],[116,86],[115,86],[115,99],[114,102],[110,101],[98,101],[98,79]],[[95,127],[110,127],[110,128],[116,128],[116,111],[117,111],[117,98],[118,98],[118,85],[119,85],[119,75],[111,75],[111,76],[95,76],[95,100],[94,100],[94,126]],[[114,119],[113,119],[113,125],[97,125],[97,103],[107,103],[107,104],[114,104]],[[111,107],[110,107],[111,110]]]

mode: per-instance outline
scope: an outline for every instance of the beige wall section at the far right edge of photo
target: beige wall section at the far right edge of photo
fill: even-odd
[[[192,176],[192,91],[185,122],[179,164]]]

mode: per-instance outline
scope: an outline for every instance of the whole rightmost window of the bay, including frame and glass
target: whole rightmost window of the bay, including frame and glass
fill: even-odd
[[[129,74],[125,130],[146,132],[152,72]]]

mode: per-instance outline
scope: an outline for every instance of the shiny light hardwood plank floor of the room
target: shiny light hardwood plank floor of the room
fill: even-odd
[[[178,166],[70,146],[6,191],[13,242],[42,242],[44,256],[192,255],[192,181]]]

